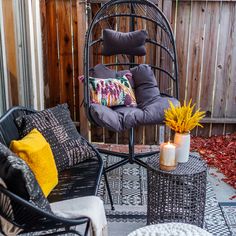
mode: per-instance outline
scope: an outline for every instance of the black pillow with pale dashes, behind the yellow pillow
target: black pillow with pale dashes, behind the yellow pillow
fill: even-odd
[[[51,146],[58,171],[96,155],[76,130],[67,104],[19,117],[16,123],[22,136],[34,128],[42,133]]]

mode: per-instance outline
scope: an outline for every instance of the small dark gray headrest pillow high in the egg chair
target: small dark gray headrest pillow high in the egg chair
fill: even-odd
[[[145,56],[146,30],[137,30],[128,33],[118,32],[110,29],[103,30],[104,56],[126,54],[132,56]]]

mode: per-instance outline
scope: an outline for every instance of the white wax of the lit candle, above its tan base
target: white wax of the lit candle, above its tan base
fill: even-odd
[[[164,166],[175,166],[175,145],[164,143],[160,147],[160,164]]]

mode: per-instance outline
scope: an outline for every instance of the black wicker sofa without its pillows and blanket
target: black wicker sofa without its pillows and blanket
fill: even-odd
[[[24,107],[14,107],[6,112],[0,118],[0,143],[9,147],[12,140],[18,140],[20,135],[15,124],[16,118],[35,112]],[[59,173],[59,183],[47,198],[50,203],[97,195],[103,174],[103,161],[97,150],[93,149],[96,153],[93,158],[82,161],[76,166]],[[76,219],[57,217],[53,213],[39,209],[27,199],[17,196],[2,186],[0,186],[0,196],[0,218],[2,217],[11,224],[23,229],[20,234],[37,231],[47,232],[51,229],[60,229],[60,233],[51,233],[52,235],[65,235],[69,232],[76,235],[88,234],[90,220],[87,217]],[[12,210],[9,210],[9,202]],[[83,225],[83,233],[75,231],[73,226],[77,225]],[[1,231],[2,229],[0,228]],[[49,235],[48,232],[47,235]]]

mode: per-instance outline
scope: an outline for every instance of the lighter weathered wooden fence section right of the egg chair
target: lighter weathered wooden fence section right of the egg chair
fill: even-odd
[[[235,118],[236,2],[180,0],[173,9],[181,100],[192,98],[208,118]],[[211,136],[236,130],[227,123],[204,126],[195,134]]]

